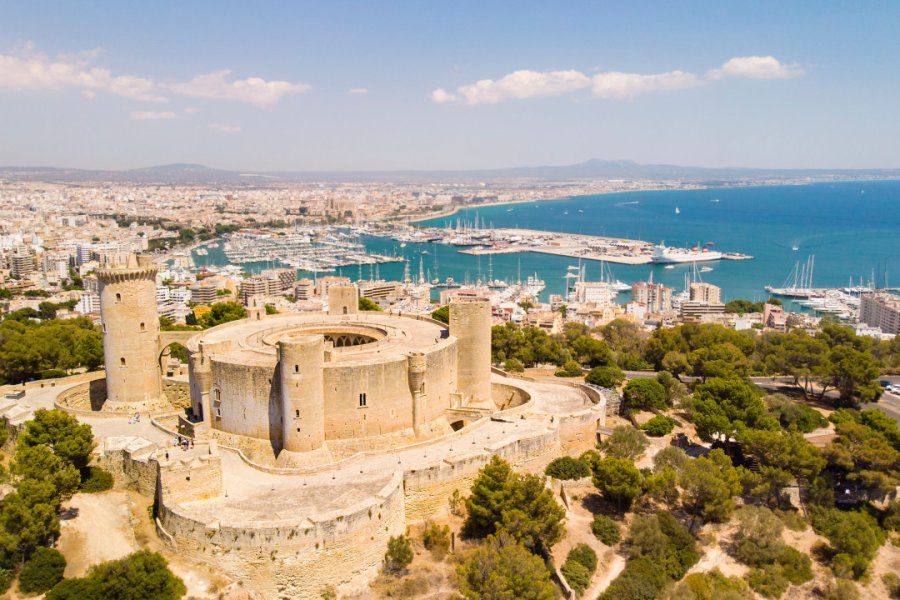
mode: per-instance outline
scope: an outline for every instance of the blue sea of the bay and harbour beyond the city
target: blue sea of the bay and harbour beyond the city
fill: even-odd
[[[678,211],[676,213],[676,207]],[[494,227],[521,227],[590,235],[665,241],[671,246],[713,242],[725,252],[741,252],[747,261],[704,263],[713,268],[704,281],[722,288],[727,301],[761,300],[763,287],[781,286],[795,263],[815,256],[813,285],[839,287],[859,279],[879,286],[900,287],[900,181],[820,183],[793,186],[667,190],[578,196],[567,200],[468,208],[423,225],[453,226],[457,219],[478,219]],[[574,259],[523,253],[487,256],[460,254],[441,244],[408,244],[366,238],[366,246],[382,254],[405,256],[413,276],[422,269],[430,278],[457,281],[515,280],[536,273],[547,283],[544,297],[565,290],[564,275]],[[797,248],[794,250],[793,248]],[[222,264],[221,250],[194,256],[198,265]],[[589,280],[598,280],[600,265],[587,261]],[[248,265],[259,270],[265,265]],[[627,283],[653,280],[681,289],[690,265],[611,265]],[[402,263],[380,265],[379,275],[400,279]],[[369,278],[369,267],[347,267],[340,274]],[[624,301],[627,294],[621,296]]]

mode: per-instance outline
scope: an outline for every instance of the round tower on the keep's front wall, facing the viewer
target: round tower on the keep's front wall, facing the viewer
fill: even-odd
[[[283,447],[309,452],[325,443],[325,338],[285,336],[278,342]]]

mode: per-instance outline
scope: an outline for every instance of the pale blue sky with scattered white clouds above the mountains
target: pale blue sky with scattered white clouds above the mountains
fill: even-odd
[[[8,3],[0,164],[900,167],[900,3]]]

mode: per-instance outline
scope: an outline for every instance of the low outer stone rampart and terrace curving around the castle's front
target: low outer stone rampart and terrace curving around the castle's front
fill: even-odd
[[[494,380],[495,389],[518,389],[527,402],[440,439],[327,465],[253,465],[215,441],[172,449],[169,460],[135,441],[130,450],[114,442],[103,455],[120,481],[156,489],[160,537],[179,554],[252,581],[266,598],[317,598],[325,585],[349,593],[378,573],[390,536],[445,514],[449,496],[466,493],[491,456],[539,472],[596,443],[602,401],[563,414],[547,410],[559,404],[548,388],[562,386]],[[569,388],[563,404],[581,394]]]

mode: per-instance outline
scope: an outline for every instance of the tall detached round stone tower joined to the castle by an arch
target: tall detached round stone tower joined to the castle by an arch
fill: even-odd
[[[104,411],[145,411],[161,403],[156,273],[149,256],[133,254],[110,258],[95,271],[106,362]]]

